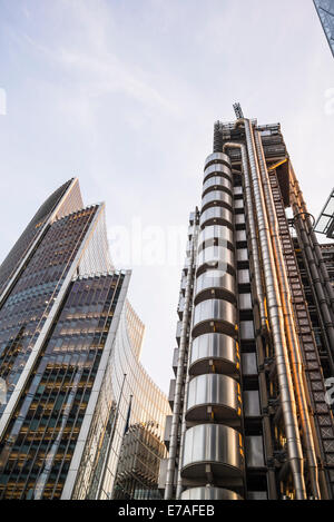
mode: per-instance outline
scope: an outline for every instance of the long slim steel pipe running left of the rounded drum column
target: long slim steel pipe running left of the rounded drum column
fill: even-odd
[[[190,299],[191,299],[194,258],[195,258],[195,242],[193,237],[190,260],[189,260],[188,274],[187,274],[187,280],[186,280],[185,309],[184,309],[184,315],[183,315],[181,335],[180,335],[178,363],[177,363],[177,376],[176,376],[173,420],[171,420],[171,430],[170,430],[169,456],[168,456],[168,463],[167,463],[165,500],[171,499],[173,489],[174,489],[175,460],[176,460],[176,451],[177,451],[177,435],[178,435],[178,427],[179,427],[180,413],[181,413],[181,391],[184,386],[185,360],[186,360],[186,347],[187,347],[187,329],[188,329],[189,307],[190,307]],[[180,465],[180,462],[179,462],[179,465]]]

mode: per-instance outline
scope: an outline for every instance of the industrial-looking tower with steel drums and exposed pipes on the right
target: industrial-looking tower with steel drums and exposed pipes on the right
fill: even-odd
[[[190,214],[160,485],[165,499],[333,499],[328,265],[279,124],[235,111],[215,125]]]

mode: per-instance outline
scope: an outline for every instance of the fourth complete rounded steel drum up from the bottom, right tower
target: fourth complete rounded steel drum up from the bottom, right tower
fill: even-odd
[[[210,332],[234,335],[236,307],[228,301],[207,299],[195,306],[193,337]]]

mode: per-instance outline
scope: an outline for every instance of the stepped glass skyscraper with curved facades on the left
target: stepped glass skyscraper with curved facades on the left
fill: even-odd
[[[77,179],[2,263],[1,499],[111,499],[125,434],[153,423],[161,440],[169,405],[139,363],[129,279],[110,262],[105,205],[84,207]]]

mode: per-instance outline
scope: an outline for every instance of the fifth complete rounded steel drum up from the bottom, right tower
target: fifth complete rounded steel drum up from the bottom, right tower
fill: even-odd
[[[208,269],[196,279],[195,304],[213,297],[236,302],[235,276],[219,269]]]

